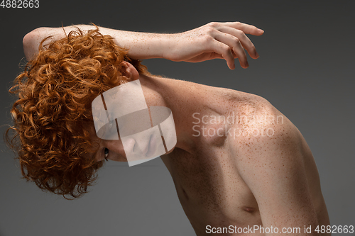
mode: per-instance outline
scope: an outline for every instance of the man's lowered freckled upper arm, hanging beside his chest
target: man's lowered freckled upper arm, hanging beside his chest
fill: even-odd
[[[269,121],[249,125],[249,132],[236,140],[239,173],[256,198],[263,227],[280,232],[300,227],[300,235],[306,235],[304,227],[314,229],[318,221],[305,173],[303,137],[285,117],[282,123]]]

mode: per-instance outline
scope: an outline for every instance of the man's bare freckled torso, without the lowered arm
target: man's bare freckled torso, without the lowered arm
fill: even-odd
[[[200,119],[205,116],[204,123],[200,120],[200,123],[194,124],[192,121],[197,121],[196,119],[186,118],[186,125],[191,125],[192,135],[197,135],[197,131],[194,130],[201,132],[196,137],[194,149],[192,152],[186,152],[175,148],[173,152],[162,157],[173,177],[182,208],[197,235],[211,235],[207,233],[207,225],[211,227],[263,226],[256,198],[241,178],[237,168],[236,160],[239,156],[231,145],[234,137],[226,133],[230,128],[232,130],[241,128],[241,124],[216,123],[211,119],[214,116],[226,118],[233,112],[234,115],[248,115],[259,108],[265,108],[266,105],[258,99],[260,97],[252,94],[203,85],[194,84],[194,86],[199,86],[196,92],[211,104],[209,108],[200,108],[197,110],[198,114],[194,115]],[[277,111],[273,107],[271,109]],[[194,125],[199,127],[194,128]],[[204,135],[202,127],[205,128]],[[219,135],[214,133],[217,130]],[[319,225],[328,225],[329,218],[320,191],[317,167],[303,138],[302,142],[307,183],[317,211],[318,222]]]

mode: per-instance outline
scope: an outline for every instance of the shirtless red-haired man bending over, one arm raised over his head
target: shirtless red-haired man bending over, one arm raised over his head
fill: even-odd
[[[239,22],[171,35],[77,27],[65,27],[77,30],[67,36],[38,28],[23,39],[29,64],[11,89],[19,96],[11,113],[26,179],[76,197],[102,160],[126,161],[121,140],[97,137],[91,104],[139,80],[148,107],[173,113],[177,143],[161,158],[197,235],[329,235],[312,152],[288,118],[260,96],[156,77],[138,61],[223,58],[234,69],[238,58],[247,68],[244,49],[258,54],[245,34],[263,30]]]

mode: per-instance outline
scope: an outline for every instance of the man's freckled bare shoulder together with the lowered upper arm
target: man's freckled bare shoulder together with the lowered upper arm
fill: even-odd
[[[263,225],[317,225],[324,207],[319,178],[310,174],[317,169],[304,138],[266,99],[246,97],[236,101],[240,117],[234,128],[240,132],[228,143],[239,176],[256,198]],[[288,221],[288,213],[297,217]]]

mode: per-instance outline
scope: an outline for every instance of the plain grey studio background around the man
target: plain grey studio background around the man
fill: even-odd
[[[258,60],[231,71],[224,60],[146,60],[153,74],[268,99],[314,154],[332,225],[355,225],[354,1],[44,1],[39,9],[0,7],[1,125],[11,123],[8,89],[21,72],[22,38],[40,26],[79,23],[176,33],[210,21],[265,30],[250,36]],[[1,133],[5,128],[1,127]],[[1,142],[0,235],[195,235],[173,180],[158,159],[128,167],[107,162],[97,184],[75,201],[21,179]],[[337,234],[350,235],[350,234]]]

